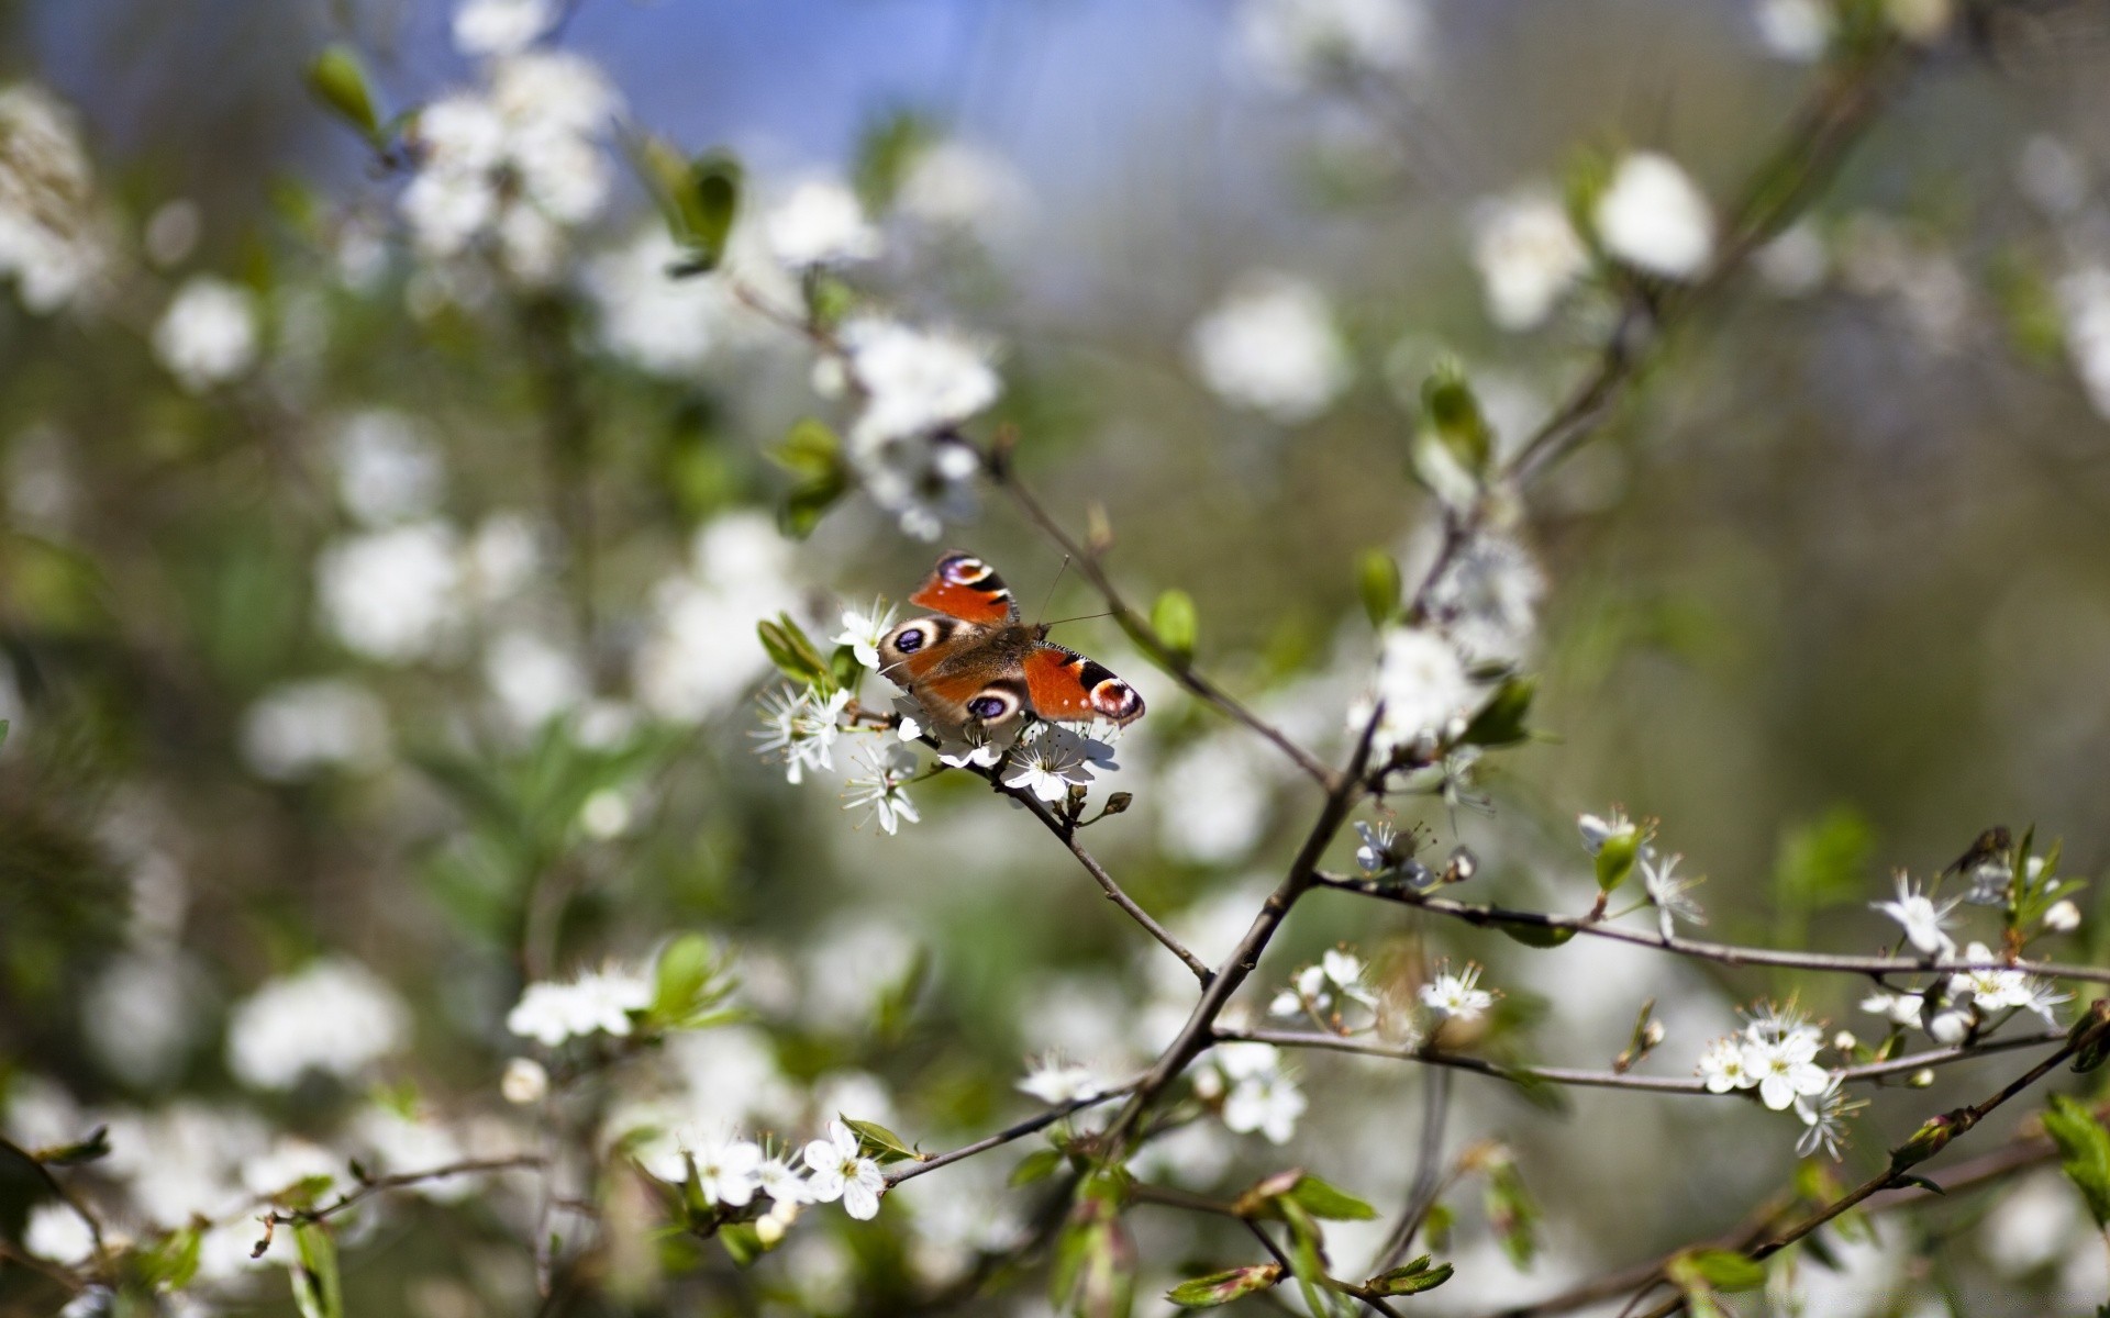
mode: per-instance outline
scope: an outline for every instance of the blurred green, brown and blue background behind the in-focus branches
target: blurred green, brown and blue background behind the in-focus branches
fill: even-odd
[[[1412,580],[1435,544],[1409,474],[1422,380],[1460,363],[1498,445],[1528,437],[1612,318],[1564,228],[1587,162],[1667,156],[1726,215],[1827,76],[1836,21],[1823,0],[578,0],[511,46],[509,6],[483,6],[490,30],[475,8],[0,6],[0,1111],[23,1147],[110,1126],[78,1175],[135,1240],[222,1221],[289,1166],[536,1147],[498,1088],[532,1052],[504,1027],[523,985],[675,934],[724,949],[747,1014],[671,1040],[603,1109],[798,1141],[848,1111],[950,1147],[1032,1109],[1028,1057],[1129,1075],[1190,1006],[981,782],[916,784],[922,818],[890,835],[842,810],[840,774],[791,787],[755,757],[762,618],[831,637],[945,546],[1028,609],[1051,595],[1047,618],[1099,603],[994,491],[939,542],[855,493],[779,529],[798,474],[770,453],[846,401],[730,285],[665,276],[646,135],[738,156],[734,253],[802,186],[855,190],[874,243],[844,295],[987,352],[1002,396],[968,432],[1017,426],[1057,519],[1104,508],[1123,588],[1190,593],[1196,662],[1340,755],[1376,652],[1357,561],[1393,553]],[[2110,8],[1886,15],[1912,74],[1840,179],[1530,496],[1515,590],[1547,736],[1475,765],[1485,810],[1397,801],[1475,850],[1473,900],[1587,909],[1572,818],[1612,803],[1663,820],[1726,941],[1874,951],[1888,873],[1990,825],[2061,837],[2074,877],[2106,862]],[[390,118],[502,95],[530,42],[603,80],[540,95],[606,103],[565,139],[576,194],[525,236],[420,209],[416,152],[380,158],[304,78],[357,51]],[[1106,778],[1135,808],[1087,837],[1213,962],[1317,795],[1110,622],[1059,637],[1152,709]],[[2047,955],[2102,955],[2095,896]],[[1553,1065],[1608,1065],[1646,997],[1658,1073],[1760,993],[1880,1033],[1857,983],[1528,951],[1334,894],[1270,951],[1255,1019],[1338,941],[1481,960],[1509,1046]],[[1298,1065],[1289,1149],[1198,1122],[1152,1175],[1234,1191],[1296,1164],[1397,1208],[1424,1078]],[[1876,1094],[1840,1175],[2017,1069]],[[1794,1166],[1798,1128],[1745,1105],[1549,1113],[1458,1086],[1454,1147],[1504,1141],[1545,1221],[1519,1269],[1460,1189],[1458,1276],[1428,1312],[1724,1229]],[[635,1286],[551,1303],[1042,1314],[1044,1269],[973,1284],[1038,1210],[1004,1185],[1028,1147],[922,1177],[874,1223],[814,1208],[747,1272],[654,1238]],[[1806,1263],[1802,1312],[2093,1312],[2104,1251],[2034,1177],[1886,1221],[1842,1272]],[[0,1194],[21,1240],[42,1191]],[[534,1312],[532,1200],[494,1179],[363,1213],[350,1312]],[[1133,1225],[1142,1312],[1249,1261],[1220,1223]],[[253,1223],[222,1234],[160,1303],[291,1312],[283,1267],[243,1257]],[[0,1310],[65,1299],[0,1263]]]

